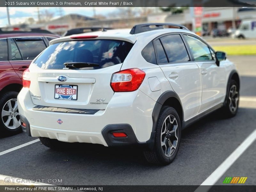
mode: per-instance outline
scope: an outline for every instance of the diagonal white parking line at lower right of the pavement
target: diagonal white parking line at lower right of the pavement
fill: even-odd
[[[212,174],[201,184],[208,185],[206,189],[204,186],[204,190],[209,190],[212,185],[214,185],[220,177],[229,169],[229,167],[235,163],[239,156],[241,156],[244,151],[256,140],[256,129],[239,145],[233,153],[231,153],[228,158],[220,164],[220,166],[212,172]],[[196,191],[201,191],[200,186],[196,189]]]

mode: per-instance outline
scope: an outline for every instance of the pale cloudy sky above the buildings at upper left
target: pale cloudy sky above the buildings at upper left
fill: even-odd
[[[59,8],[56,7],[40,7],[40,12],[47,10],[53,12],[53,18],[60,16]],[[96,14],[108,15],[111,12],[116,11],[116,7],[95,7]],[[67,15],[70,13],[81,14],[85,16],[92,17],[93,9],[92,7],[62,7],[62,15]],[[27,18],[33,17],[36,21],[37,19],[37,8],[36,7],[9,7],[9,14],[11,25],[23,23]],[[8,24],[6,7],[0,7],[0,27],[4,27]]]

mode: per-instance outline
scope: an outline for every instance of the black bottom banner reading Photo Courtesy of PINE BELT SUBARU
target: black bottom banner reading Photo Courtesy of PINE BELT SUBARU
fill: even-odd
[[[104,192],[255,192],[256,186],[252,185],[217,185],[217,186],[196,186],[196,185],[104,185],[104,186],[54,186],[54,185],[6,185],[0,186],[0,191],[12,192],[63,192],[63,191],[104,191]]]

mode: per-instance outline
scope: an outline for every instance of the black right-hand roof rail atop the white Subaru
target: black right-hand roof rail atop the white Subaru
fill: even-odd
[[[163,29],[164,26],[177,27],[180,29],[188,30],[188,28],[186,28],[183,25],[177,25],[172,23],[145,23],[145,24],[134,25],[132,30],[130,31],[130,34],[137,34],[137,33],[142,33],[145,31],[151,31],[155,29]]]

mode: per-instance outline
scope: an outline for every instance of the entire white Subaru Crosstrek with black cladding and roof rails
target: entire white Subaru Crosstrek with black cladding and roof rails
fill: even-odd
[[[236,115],[239,86],[224,52],[184,26],[149,23],[52,40],[24,71],[18,107],[23,130],[49,148],[138,145],[169,164],[182,129],[219,108]]]

